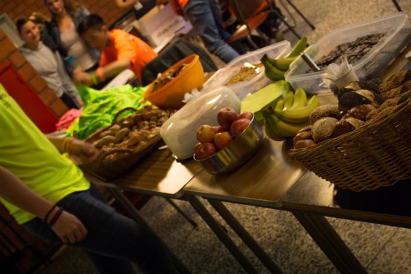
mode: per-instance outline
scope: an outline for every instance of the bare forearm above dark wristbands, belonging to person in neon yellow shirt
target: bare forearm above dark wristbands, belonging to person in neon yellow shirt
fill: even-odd
[[[28,188],[18,177],[0,166],[0,197],[14,206],[30,212],[41,219],[53,206],[51,201],[44,199]]]

